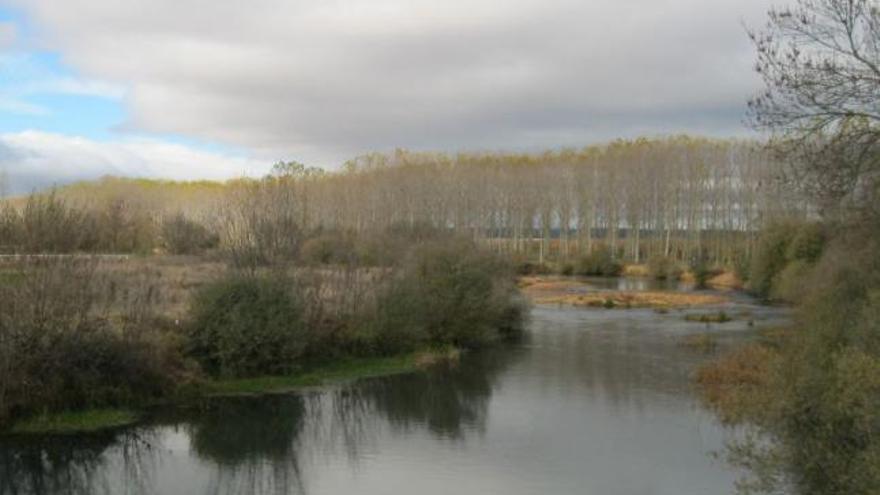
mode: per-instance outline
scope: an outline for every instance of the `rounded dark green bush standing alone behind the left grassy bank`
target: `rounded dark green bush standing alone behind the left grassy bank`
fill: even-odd
[[[229,275],[195,294],[187,354],[215,376],[290,372],[309,343],[304,314],[290,280]]]

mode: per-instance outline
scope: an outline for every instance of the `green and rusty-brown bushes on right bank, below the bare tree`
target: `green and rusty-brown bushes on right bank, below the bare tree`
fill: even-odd
[[[815,266],[809,258],[788,265],[779,288],[799,289],[797,326],[775,346],[750,346],[756,359],[732,354],[701,373],[704,394],[725,419],[748,421],[772,438],[733,451],[768,489],[780,480],[793,480],[799,493],[880,486],[878,232],[850,232]],[[805,269],[821,283],[799,283]],[[748,374],[728,383],[718,372],[724,368]]]

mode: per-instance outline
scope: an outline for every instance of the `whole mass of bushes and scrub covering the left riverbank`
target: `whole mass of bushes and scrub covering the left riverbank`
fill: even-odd
[[[271,235],[254,239],[247,252],[272,252],[263,245],[274,242]],[[351,244],[352,253],[360,244]],[[508,262],[440,234],[390,244],[399,246],[399,262],[377,268],[267,264],[242,256],[240,245],[218,253],[228,268],[186,288],[189,302],[173,316],[181,303],[169,287],[175,275],[149,263],[6,262],[0,427],[35,413],[138,407],[191,394],[212,378],[287,375],[340,359],[469,349],[519,335],[523,303]]]

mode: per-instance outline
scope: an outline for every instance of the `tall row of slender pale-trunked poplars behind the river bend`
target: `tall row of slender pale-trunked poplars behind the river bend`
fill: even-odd
[[[756,143],[690,137],[541,154],[372,154],[314,181],[309,223],[369,230],[426,222],[539,261],[597,246],[615,258],[729,263],[770,217],[808,205]]]

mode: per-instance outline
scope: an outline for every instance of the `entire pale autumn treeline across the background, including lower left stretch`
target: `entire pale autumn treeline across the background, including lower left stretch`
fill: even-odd
[[[782,172],[755,143],[676,137],[542,154],[397,151],[333,173],[280,163],[264,179],[222,185],[105,179],[10,203],[0,215],[0,249],[198,251],[213,247],[211,239],[235,242],[224,231],[248,219],[231,218],[229,205],[254,199],[248,191],[256,188],[267,195],[255,208],[286,209],[285,228],[306,237],[430,226],[538,263],[602,248],[636,263],[731,265],[748,258],[768,219],[812,213],[782,187]],[[43,217],[60,215],[59,203],[77,210],[65,220],[76,235],[47,231],[57,222]],[[175,240],[188,233],[199,239]]]

